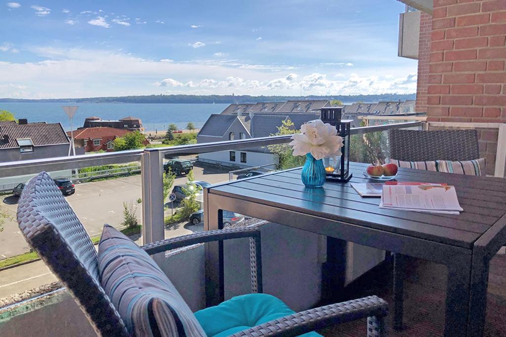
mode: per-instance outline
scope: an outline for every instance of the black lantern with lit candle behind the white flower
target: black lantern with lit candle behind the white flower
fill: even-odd
[[[347,182],[351,179],[350,173],[350,128],[351,120],[341,120],[343,108],[321,108],[320,119],[338,129],[338,135],[343,137],[341,156],[323,158],[325,165],[326,180],[335,182]]]

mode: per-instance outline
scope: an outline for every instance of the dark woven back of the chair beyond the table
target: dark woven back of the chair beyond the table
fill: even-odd
[[[388,130],[390,158],[409,162],[480,158],[476,130]]]

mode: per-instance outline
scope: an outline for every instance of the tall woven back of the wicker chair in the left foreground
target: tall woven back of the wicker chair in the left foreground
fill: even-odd
[[[100,285],[97,252],[90,236],[46,172],[24,187],[17,219],[28,244],[66,285],[97,333],[127,336]]]

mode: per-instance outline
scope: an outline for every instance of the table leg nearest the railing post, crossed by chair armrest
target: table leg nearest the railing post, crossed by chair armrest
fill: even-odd
[[[223,210],[208,203],[204,191],[204,230],[223,229]],[[225,300],[223,240],[205,244],[205,306]]]

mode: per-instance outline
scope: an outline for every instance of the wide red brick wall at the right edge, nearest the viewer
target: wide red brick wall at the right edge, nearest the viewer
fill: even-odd
[[[506,122],[506,0],[434,0],[429,121]],[[480,130],[493,173],[497,132]]]

